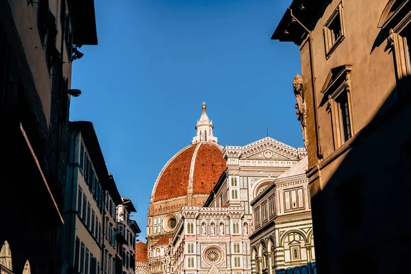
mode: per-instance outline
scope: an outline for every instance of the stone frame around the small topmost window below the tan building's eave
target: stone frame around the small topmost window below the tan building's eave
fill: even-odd
[[[330,34],[330,29],[329,26],[334,23],[334,20],[336,19],[336,16],[340,16],[340,28],[341,28],[341,34],[340,36],[331,43],[329,41],[329,35]],[[331,16],[329,16],[329,19],[323,26],[323,36],[324,36],[324,47],[325,47],[325,59],[328,59],[329,56],[334,52],[336,47],[340,45],[341,42],[343,42],[345,38],[345,26],[344,26],[344,14],[343,14],[343,2],[341,1],[337,8],[332,12]]]

